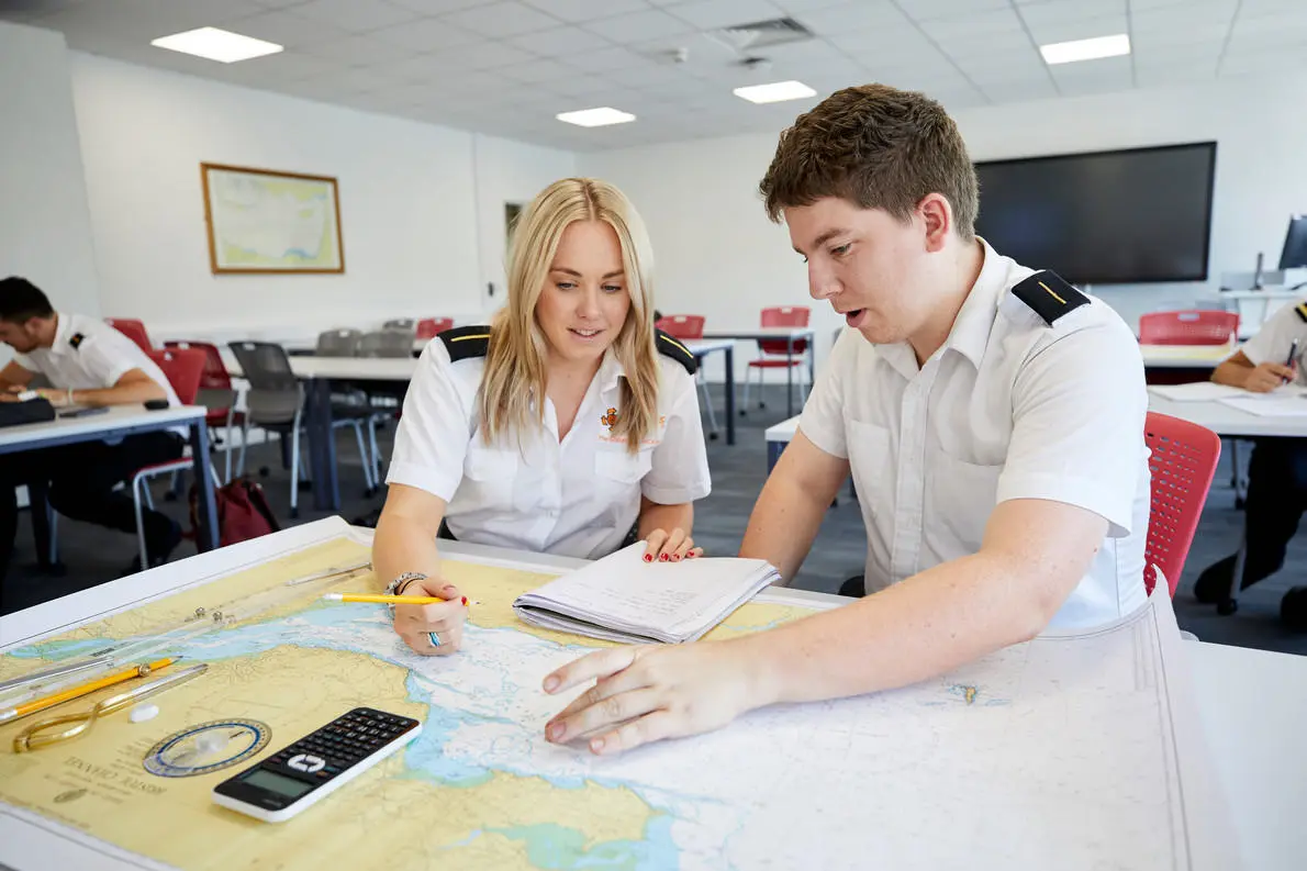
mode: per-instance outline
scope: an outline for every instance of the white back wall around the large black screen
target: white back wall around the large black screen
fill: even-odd
[[[1259,251],[1272,267],[1278,260],[1289,214],[1307,212],[1304,88],[1307,77],[1233,80],[955,118],[974,160],[1217,140],[1209,281],[1093,288],[1137,323],[1145,311],[1217,302],[1221,273],[1251,272]],[[749,135],[580,156],[580,171],[622,187],[648,222],[663,311],[736,326],[754,323],[765,305],[806,299],[804,267],[757,194],[775,144],[776,135]],[[817,306],[813,323],[821,353],[842,322]]]

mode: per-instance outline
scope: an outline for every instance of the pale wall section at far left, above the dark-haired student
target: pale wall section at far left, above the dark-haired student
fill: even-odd
[[[64,37],[0,22],[0,277],[56,309],[99,313]],[[9,352],[0,347],[8,360]]]

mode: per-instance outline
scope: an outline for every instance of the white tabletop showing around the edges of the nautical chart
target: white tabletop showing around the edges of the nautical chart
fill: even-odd
[[[166,595],[201,578],[265,561],[346,528],[340,518],[327,518],[111,581],[0,616],[0,638],[21,646],[42,633],[65,630],[129,603]],[[352,534],[366,541],[371,530],[353,530]],[[446,541],[442,549],[455,557],[515,561],[524,556],[459,541]],[[532,555],[529,560],[563,570],[582,565],[579,560],[565,557]],[[809,607],[840,607],[853,602],[780,587],[767,589],[759,595],[772,602]],[[1201,642],[1188,642],[1184,650],[1189,655],[1197,717],[1225,791],[1230,820],[1243,853],[1243,867],[1249,871],[1300,868],[1297,819],[1300,808],[1307,807],[1307,753],[1298,748],[1307,731],[1307,658]],[[1249,740],[1249,736],[1253,739]],[[196,849],[203,850],[204,845],[197,844]],[[54,823],[29,823],[10,813],[5,806],[0,806],[0,864],[16,871],[125,871],[142,867],[111,851],[81,846],[61,836]]]

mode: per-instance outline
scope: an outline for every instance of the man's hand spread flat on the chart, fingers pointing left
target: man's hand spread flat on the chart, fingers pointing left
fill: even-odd
[[[720,728],[770,701],[746,649],[731,641],[600,650],[545,677],[545,692],[589,680],[595,685],[546,723],[546,739],[588,739],[592,753],[618,753]]]

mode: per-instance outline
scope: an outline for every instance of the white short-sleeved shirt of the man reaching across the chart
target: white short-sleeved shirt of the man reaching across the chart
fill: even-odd
[[[907,343],[846,330],[800,429],[848,458],[867,524],[867,591],[980,549],[999,502],[1077,505],[1107,539],[1053,626],[1145,602],[1148,395],[1138,343],[1090,299],[1052,326],[1009,289],[1033,275],[984,243],[984,267],[945,344],[918,369]],[[1031,530],[1038,535],[1038,530]]]

